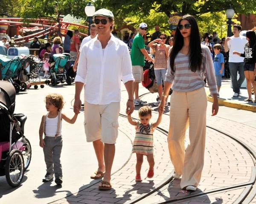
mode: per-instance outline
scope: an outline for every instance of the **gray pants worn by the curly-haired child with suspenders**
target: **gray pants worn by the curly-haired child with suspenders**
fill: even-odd
[[[55,178],[62,177],[61,168],[61,149],[62,149],[62,137],[48,137],[44,138],[45,146],[44,161],[47,168],[47,173],[55,175]]]

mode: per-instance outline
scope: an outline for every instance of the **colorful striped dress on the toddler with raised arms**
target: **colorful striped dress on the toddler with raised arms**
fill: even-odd
[[[137,121],[132,153],[153,154],[153,132],[152,123],[145,127],[140,121]]]

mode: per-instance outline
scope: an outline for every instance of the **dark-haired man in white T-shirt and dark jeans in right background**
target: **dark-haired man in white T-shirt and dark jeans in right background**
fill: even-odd
[[[245,44],[248,42],[246,37],[239,35],[242,27],[238,24],[233,26],[233,36],[227,37],[225,40],[225,51],[229,52],[229,69],[233,86],[234,95],[238,97],[240,94],[240,87],[244,82],[244,57],[240,57],[237,54],[233,54],[233,51],[244,53]],[[239,73],[239,79],[237,80],[237,72]]]

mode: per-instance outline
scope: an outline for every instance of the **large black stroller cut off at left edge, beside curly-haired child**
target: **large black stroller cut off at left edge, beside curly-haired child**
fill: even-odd
[[[15,94],[11,83],[0,81],[0,176],[6,176],[11,187],[20,185],[32,156],[24,136],[26,116],[14,113]]]

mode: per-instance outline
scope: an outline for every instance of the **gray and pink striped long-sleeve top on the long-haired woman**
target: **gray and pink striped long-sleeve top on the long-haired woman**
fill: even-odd
[[[179,52],[175,58],[174,69],[171,70],[170,62],[167,62],[167,73],[165,81],[172,83],[172,90],[179,92],[195,91],[204,87],[204,79],[207,79],[211,94],[217,94],[217,85],[209,48],[201,45],[203,60],[201,70],[192,72],[189,68],[189,55]],[[172,48],[171,48],[172,49]],[[169,51],[169,54],[171,52]]]

